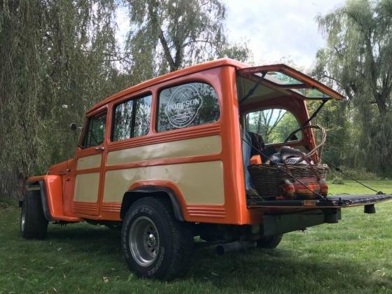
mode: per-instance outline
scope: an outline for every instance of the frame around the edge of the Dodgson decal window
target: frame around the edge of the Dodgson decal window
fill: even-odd
[[[215,92],[216,94],[216,102],[218,104],[218,109],[219,109],[219,116],[218,118],[212,122],[212,123],[205,123],[202,125],[187,125],[186,127],[179,127],[179,128],[173,128],[171,130],[158,130],[158,116],[159,116],[159,110],[160,110],[160,93],[163,90],[169,89],[170,87],[178,87],[181,85],[186,85],[186,84],[190,84],[190,83],[202,83],[205,85],[209,85]],[[215,123],[220,123],[221,121],[221,117],[222,117],[222,102],[221,102],[221,97],[219,96],[219,92],[216,90],[216,88],[214,87],[214,85],[211,84],[211,82],[209,80],[203,80],[203,79],[197,79],[197,78],[191,78],[191,79],[187,79],[187,80],[181,80],[178,81],[176,83],[172,83],[172,84],[168,84],[168,85],[162,85],[162,87],[159,87],[156,91],[155,91],[155,109],[154,109],[154,118],[155,118],[155,123],[153,125],[153,130],[155,132],[155,134],[162,134],[162,133],[166,133],[166,132],[181,132],[181,130],[188,130],[188,128],[192,128],[192,127],[204,127],[207,125],[212,125]]]

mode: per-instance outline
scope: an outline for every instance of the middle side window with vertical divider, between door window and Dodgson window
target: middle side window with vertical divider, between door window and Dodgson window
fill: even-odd
[[[114,109],[112,141],[141,137],[148,133],[151,95],[117,104]]]

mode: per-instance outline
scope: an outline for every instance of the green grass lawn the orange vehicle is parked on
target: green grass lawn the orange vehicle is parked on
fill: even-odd
[[[392,193],[392,181],[366,182]],[[368,193],[346,182],[330,192]],[[1,205],[0,205],[1,207]],[[85,223],[49,225],[44,241],[20,237],[20,209],[0,208],[0,293],[392,293],[392,202],[342,210],[339,224],[290,232],[275,250],[195,252],[172,283],[137,279],[120,232]]]

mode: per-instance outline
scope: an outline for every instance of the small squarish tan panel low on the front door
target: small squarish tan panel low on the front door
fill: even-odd
[[[97,202],[99,188],[99,172],[78,174],[75,180],[73,201]]]

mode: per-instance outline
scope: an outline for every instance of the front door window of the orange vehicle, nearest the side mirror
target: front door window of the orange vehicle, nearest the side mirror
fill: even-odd
[[[87,132],[83,139],[83,148],[97,146],[104,142],[106,112],[99,113],[88,120]]]

